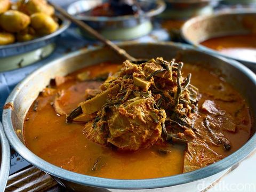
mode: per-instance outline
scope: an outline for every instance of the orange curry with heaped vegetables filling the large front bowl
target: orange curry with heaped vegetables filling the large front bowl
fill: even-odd
[[[147,179],[220,161],[244,145],[251,126],[244,99],[223,78],[156,58],[55,77],[31,105],[23,135],[63,169]]]

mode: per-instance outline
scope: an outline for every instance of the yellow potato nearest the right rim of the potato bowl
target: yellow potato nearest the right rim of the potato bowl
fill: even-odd
[[[31,15],[31,27],[39,35],[47,35],[58,29],[59,25],[54,19],[45,13],[35,13]]]

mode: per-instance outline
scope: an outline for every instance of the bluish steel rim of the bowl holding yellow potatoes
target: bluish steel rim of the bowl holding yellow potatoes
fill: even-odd
[[[58,28],[57,31],[55,31],[52,34],[38,37],[27,42],[18,42],[18,43],[12,43],[9,45],[1,45],[0,59],[34,51],[55,42],[58,35],[60,35],[63,31],[65,31],[70,25],[69,20],[65,19],[59,14],[57,14],[56,16],[59,19],[59,24],[60,24],[60,27]]]

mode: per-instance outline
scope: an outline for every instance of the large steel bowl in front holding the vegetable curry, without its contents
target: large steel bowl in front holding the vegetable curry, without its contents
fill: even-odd
[[[211,68],[218,74],[223,74],[222,77],[243,95],[251,108],[252,117],[256,118],[256,92],[252,92],[256,88],[256,75],[241,65],[241,63],[203,53],[185,44],[126,43],[120,45],[135,58],[154,58],[160,56],[167,60],[179,58],[185,63],[197,63],[197,65],[202,67]],[[50,174],[61,185],[76,191],[123,192],[132,189],[134,191],[200,191],[218,180],[231,167],[237,166],[243,158],[251,154],[256,148],[256,135],[253,134],[243,147],[217,163],[196,171],[171,177],[144,180],[91,177],[61,169],[36,156],[25,146],[22,129],[26,113],[37,98],[38,93],[55,76],[67,75],[83,67],[103,61],[122,61],[122,59],[106,47],[70,53],[34,71],[34,73],[14,88],[6,101],[6,107],[3,111],[3,126],[11,146],[28,162]],[[253,132],[255,130],[254,122]]]

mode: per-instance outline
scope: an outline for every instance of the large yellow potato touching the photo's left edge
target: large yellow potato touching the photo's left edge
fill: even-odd
[[[29,16],[19,11],[9,10],[0,15],[0,26],[10,33],[25,29],[29,23]]]

